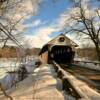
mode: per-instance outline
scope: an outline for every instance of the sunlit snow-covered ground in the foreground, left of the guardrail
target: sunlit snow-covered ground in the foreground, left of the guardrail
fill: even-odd
[[[13,100],[64,100],[56,88],[57,80],[53,75],[51,65],[41,65],[6,93]],[[0,95],[0,100],[7,100],[7,97]]]

